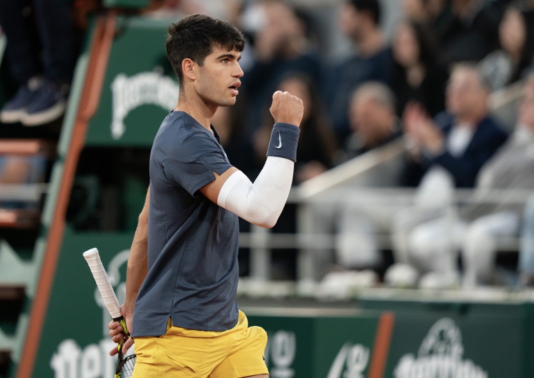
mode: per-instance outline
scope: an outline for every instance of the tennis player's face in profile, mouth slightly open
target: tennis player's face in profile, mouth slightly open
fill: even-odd
[[[239,66],[241,53],[216,47],[198,67],[195,90],[208,106],[231,106],[239,94],[239,78],[243,70]]]

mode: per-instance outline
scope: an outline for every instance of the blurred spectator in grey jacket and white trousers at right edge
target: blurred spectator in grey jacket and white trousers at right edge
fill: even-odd
[[[525,85],[517,119],[511,138],[482,167],[467,204],[448,218],[422,223],[411,231],[411,262],[443,274],[438,262],[447,259],[444,254],[454,260],[460,250],[464,286],[495,283],[498,238],[519,236],[524,203],[517,200],[514,190],[534,187],[534,76]],[[520,269],[529,272],[528,253],[521,259],[525,263]]]

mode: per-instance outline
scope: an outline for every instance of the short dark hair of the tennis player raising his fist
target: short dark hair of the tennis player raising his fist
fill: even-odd
[[[243,51],[245,37],[237,27],[227,21],[203,14],[191,14],[170,24],[166,47],[167,59],[181,85],[184,59],[189,58],[202,66],[215,47],[228,51]]]

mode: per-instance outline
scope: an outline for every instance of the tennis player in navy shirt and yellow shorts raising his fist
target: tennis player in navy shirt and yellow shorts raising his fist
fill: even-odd
[[[269,374],[266,333],[248,327],[235,303],[238,216],[262,227],[276,223],[293,178],[303,104],[287,92],[273,94],[268,158],[250,182],[230,164],[210,124],[217,107],[235,103],[244,43],[237,28],[205,15],[169,27],[167,57],[180,84],[178,103],[152,146],[150,191],[122,306],[135,339],[134,377]],[[113,321],[109,328],[117,342],[122,328]]]

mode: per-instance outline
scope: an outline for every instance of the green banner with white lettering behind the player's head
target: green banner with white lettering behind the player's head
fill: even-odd
[[[161,121],[178,101],[178,79],[165,49],[171,21],[117,17],[117,33],[86,146],[152,146]]]

